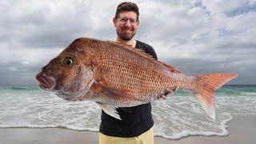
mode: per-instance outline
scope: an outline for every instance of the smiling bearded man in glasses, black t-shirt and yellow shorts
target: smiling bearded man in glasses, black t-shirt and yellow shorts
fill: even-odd
[[[136,34],[139,26],[138,6],[133,2],[122,2],[118,5],[113,23],[116,28],[116,42],[122,42],[142,49],[157,59],[154,49],[146,43],[136,41]],[[171,90],[166,90],[171,93]],[[166,94],[167,94],[166,93]],[[166,98],[165,95],[162,98]],[[154,143],[153,125],[150,103],[134,107],[118,108],[118,114],[122,120],[111,117],[102,111],[102,122],[100,125],[100,144],[135,144]]]

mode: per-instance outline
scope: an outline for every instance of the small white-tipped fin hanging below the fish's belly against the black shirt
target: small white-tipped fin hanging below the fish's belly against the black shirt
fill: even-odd
[[[119,120],[122,120],[120,118],[120,115],[118,114],[117,108],[115,106],[110,106],[110,105],[106,105],[103,104],[102,102],[96,102],[98,104],[98,106],[101,106],[102,110],[106,113],[109,114],[111,117],[117,118]]]

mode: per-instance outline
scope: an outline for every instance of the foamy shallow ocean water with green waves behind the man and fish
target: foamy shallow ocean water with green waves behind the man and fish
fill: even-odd
[[[62,127],[98,131],[101,109],[94,102],[66,102],[38,87],[0,87],[0,128]],[[226,136],[226,122],[235,114],[256,114],[256,86],[222,86],[216,91],[214,121],[198,100],[178,91],[152,102],[154,135],[178,139],[190,135]]]

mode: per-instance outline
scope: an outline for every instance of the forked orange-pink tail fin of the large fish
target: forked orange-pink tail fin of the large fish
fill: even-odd
[[[202,108],[210,118],[215,119],[214,94],[226,82],[237,77],[238,74],[200,74],[197,76],[197,86],[194,90],[195,96],[201,103]]]

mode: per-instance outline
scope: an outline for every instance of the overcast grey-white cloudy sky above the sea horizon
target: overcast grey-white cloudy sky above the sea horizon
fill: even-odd
[[[35,86],[35,74],[75,38],[114,40],[123,1],[0,1],[0,86]],[[135,1],[131,1],[135,2]],[[255,0],[136,1],[136,39],[185,74],[237,72],[256,84]]]

